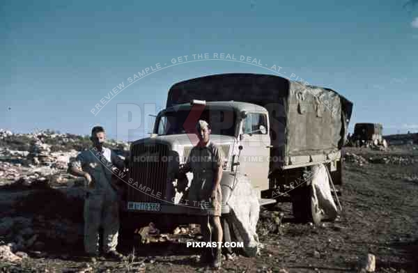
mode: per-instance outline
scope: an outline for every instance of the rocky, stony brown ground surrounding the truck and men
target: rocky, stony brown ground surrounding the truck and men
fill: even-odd
[[[152,224],[138,230],[119,245],[123,262],[84,257],[83,181],[65,168],[88,141],[51,135],[0,132],[0,272],[205,271],[196,249],[185,245],[200,238],[193,225],[171,234],[159,234]],[[358,272],[372,253],[376,272],[418,272],[418,146],[343,152],[343,212],[336,221],[295,223],[288,203],[262,210],[260,255],[238,251],[219,271]]]

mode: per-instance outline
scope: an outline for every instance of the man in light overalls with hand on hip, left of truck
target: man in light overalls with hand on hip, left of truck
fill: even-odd
[[[119,230],[118,196],[111,186],[112,171],[123,170],[123,160],[113,150],[103,147],[103,127],[91,130],[93,147],[84,150],[70,162],[68,172],[84,177],[87,182],[84,201],[84,249],[88,256],[99,255],[99,228],[103,228],[103,253],[106,258],[121,260],[116,251]],[[116,166],[115,166],[116,165]]]

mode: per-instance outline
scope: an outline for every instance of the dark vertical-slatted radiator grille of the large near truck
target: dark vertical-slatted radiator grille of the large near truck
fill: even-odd
[[[151,192],[144,193],[139,187],[128,187],[128,201],[159,202],[155,196],[160,192],[160,198],[164,198],[167,190],[167,160],[164,158],[167,159],[169,148],[164,144],[139,143],[132,146],[131,152],[129,169],[132,184],[138,182],[139,187],[148,187]]]

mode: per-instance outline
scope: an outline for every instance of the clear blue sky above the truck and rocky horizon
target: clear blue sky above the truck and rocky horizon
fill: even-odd
[[[0,18],[0,128],[13,132],[88,134],[100,124],[109,137],[132,141],[148,132],[144,104],[160,109],[177,81],[274,74],[265,69],[274,64],[353,101],[351,127],[379,122],[387,134],[418,132],[418,7],[401,1],[2,1]],[[251,56],[265,68],[233,61],[165,68],[204,53]],[[164,69],[91,113],[157,63]],[[134,123],[141,127],[127,131]]]

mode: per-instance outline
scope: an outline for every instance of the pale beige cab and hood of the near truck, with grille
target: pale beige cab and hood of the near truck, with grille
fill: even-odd
[[[160,111],[151,137],[131,145],[127,188],[127,210],[199,214],[176,179],[176,172],[196,145],[196,121],[206,120],[210,141],[222,151],[224,179],[237,169],[248,176],[254,189],[268,189],[270,135],[268,111],[247,102],[204,102],[192,100]],[[239,162],[239,164],[238,164]],[[187,187],[193,174],[187,173]],[[223,212],[228,212],[227,205]],[[194,209],[194,210],[193,210]]]

